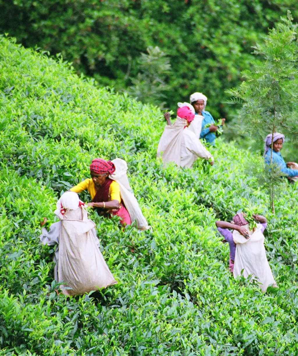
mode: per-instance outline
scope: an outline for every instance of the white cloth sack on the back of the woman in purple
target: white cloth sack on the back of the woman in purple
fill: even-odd
[[[249,224],[245,227],[249,230]],[[254,232],[249,231],[249,239],[245,239],[237,230],[233,231],[233,240],[236,244],[233,275],[236,278],[241,274],[242,269],[244,278],[252,274],[253,278],[261,283],[260,288],[265,293],[270,284],[273,287],[277,287],[277,285],[267,261],[264,246],[265,237],[261,228],[262,225],[257,224]]]

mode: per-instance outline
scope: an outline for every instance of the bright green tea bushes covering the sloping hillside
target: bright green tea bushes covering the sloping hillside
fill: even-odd
[[[279,289],[263,295],[228,272],[215,220],[248,201],[268,205],[254,178],[261,157],[218,140],[213,167],[162,167],[161,112],[78,78],[63,62],[0,41],[0,355],[297,355],[297,191],[268,218],[266,248]],[[54,221],[61,191],[88,177],[94,157],[124,158],[152,231],[97,224],[118,284],[55,293]],[[254,167],[254,168],[251,168]],[[82,194],[83,199],[88,199]]]

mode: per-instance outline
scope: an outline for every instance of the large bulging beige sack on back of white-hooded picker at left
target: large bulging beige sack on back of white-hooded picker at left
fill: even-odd
[[[89,293],[117,283],[92,235],[94,227],[84,208],[67,210],[61,220],[58,282],[64,282],[61,289],[66,295]]]

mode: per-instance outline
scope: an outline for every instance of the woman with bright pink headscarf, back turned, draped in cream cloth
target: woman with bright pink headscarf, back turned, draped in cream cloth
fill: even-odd
[[[167,120],[168,125],[164,128],[157,148],[157,157],[162,157],[164,166],[174,162],[178,167],[191,168],[198,157],[205,158],[213,165],[210,152],[195,133],[188,129],[194,116],[188,106],[183,106],[177,110],[177,119],[173,125]]]

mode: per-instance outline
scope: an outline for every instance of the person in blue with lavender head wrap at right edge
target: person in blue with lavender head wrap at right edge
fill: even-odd
[[[273,134],[272,163],[276,164],[277,167],[280,167],[281,172],[286,174],[288,178],[297,177],[298,176],[297,169],[287,168],[288,166],[291,166],[292,164],[295,163],[294,162],[286,163],[280,153],[280,150],[282,149],[282,145],[284,142],[285,142],[285,136],[282,133],[275,132]],[[271,161],[271,143],[272,143],[272,133],[267,135],[267,137],[265,138],[264,158],[266,164],[270,164]]]

